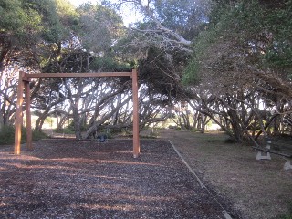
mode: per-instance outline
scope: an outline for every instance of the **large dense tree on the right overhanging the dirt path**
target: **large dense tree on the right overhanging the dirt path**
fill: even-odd
[[[236,141],[249,135],[246,127],[252,117],[264,120],[255,99],[263,101],[266,93],[287,101],[292,97],[290,67],[285,61],[290,53],[290,16],[291,1],[213,1],[208,28],[195,40],[195,54],[185,68],[184,80],[209,90],[219,100]],[[276,62],[271,54],[283,62]],[[260,127],[265,132],[263,123]]]

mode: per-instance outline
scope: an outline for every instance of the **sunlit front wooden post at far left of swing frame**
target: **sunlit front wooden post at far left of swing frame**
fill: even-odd
[[[22,104],[24,101],[24,72],[19,72],[18,87],[17,87],[17,102],[16,102],[16,133],[15,133],[15,154],[20,154],[20,142],[21,142],[21,127],[23,120]]]

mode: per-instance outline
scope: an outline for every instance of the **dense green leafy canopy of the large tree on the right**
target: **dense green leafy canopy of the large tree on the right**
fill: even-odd
[[[235,57],[245,56],[245,62],[255,68],[276,68],[292,73],[292,1],[282,4],[254,1],[213,1],[208,28],[194,40],[194,58],[185,68],[184,81],[195,84],[198,67],[206,59],[223,65],[225,55],[233,65]],[[228,51],[229,50],[229,51]],[[215,53],[220,53],[215,56]],[[228,55],[229,54],[229,55]],[[229,56],[229,57],[226,57]],[[215,60],[217,58],[217,60]],[[217,65],[217,67],[219,67]],[[221,68],[217,69],[222,70]]]

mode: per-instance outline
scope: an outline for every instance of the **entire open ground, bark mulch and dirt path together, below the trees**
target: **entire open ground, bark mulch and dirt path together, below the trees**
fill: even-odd
[[[276,218],[292,200],[284,160],[255,161],[255,151],[221,133],[160,130],[141,140],[34,142],[0,150],[0,218]],[[181,158],[200,177],[201,188]],[[216,200],[215,200],[215,199]],[[221,205],[221,206],[220,206]]]

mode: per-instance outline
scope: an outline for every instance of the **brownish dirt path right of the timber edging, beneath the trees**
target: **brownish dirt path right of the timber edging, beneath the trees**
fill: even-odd
[[[182,130],[159,130],[171,140],[219,200],[227,198],[243,218],[276,218],[286,214],[292,201],[292,171],[284,160],[255,161],[255,151],[239,144],[226,144],[224,134],[201,134]]]

